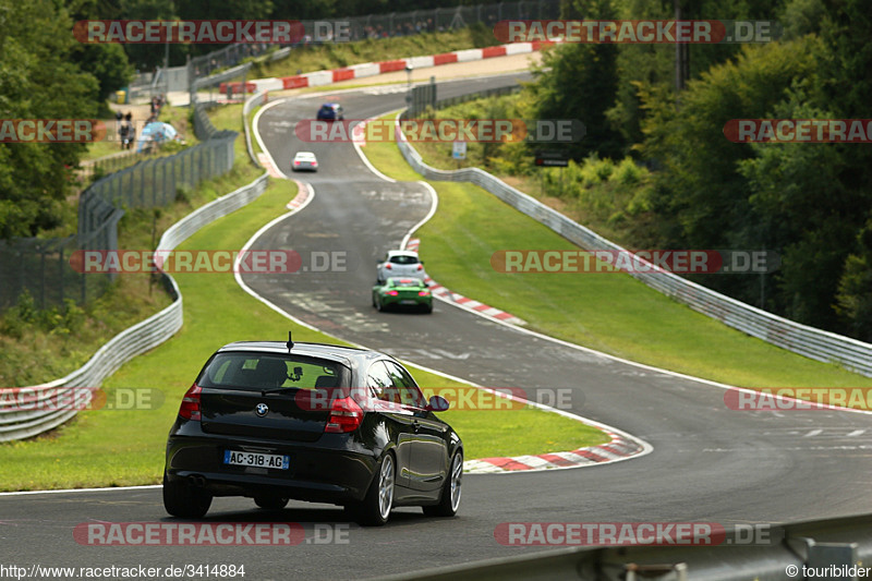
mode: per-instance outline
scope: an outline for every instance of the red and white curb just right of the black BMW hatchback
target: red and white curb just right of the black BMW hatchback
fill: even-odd
[[[579,448],[569,452],[516,456],[513,458],[482,458],[463,462],[467,474],[500,474],[504,472],[564,470],[592,464],[604,464],[626,460],[645,451],[644,446],[619,434],[606,432],[611,441]]]

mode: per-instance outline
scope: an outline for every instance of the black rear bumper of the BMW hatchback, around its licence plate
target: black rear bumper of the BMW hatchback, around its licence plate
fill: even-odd
[[[341,435],[336,435],[341,436]],[[362,500],[377,465],[375,456],[347,443],[344,449],[312,444],[228,440],[221,436],[170,436],[167,480],[207,489],[213,496],[274,495],[344,504]],[[225,450],[287,455],[288,470],[228,465]]]

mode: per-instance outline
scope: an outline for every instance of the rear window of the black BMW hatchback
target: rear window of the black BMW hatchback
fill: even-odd
[[[278,387],[341,387],[344,366],[332,361],[262,353],[218,353],[197,378],[199,387],[259,391]]]

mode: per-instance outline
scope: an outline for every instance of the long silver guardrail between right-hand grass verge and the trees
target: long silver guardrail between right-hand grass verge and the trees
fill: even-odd
[[[421,155],[402,137],[397,142],[409,165],[431,180],[470,182],[487,190],[519,211],[547,226],[582,249],[620,251],[621,246],[572,221],[559,211],[517,190],[480,168],[447,171],[427,166]],[[712,318],[763,339],[788,351],[825,363],[837,363],[862,375],[872,376],[872,344],[815,329],[742,303],[705,287],[663,270],[641,258],[630,276],[649,287]],[[644,270],[644,271],[642,271]]]

